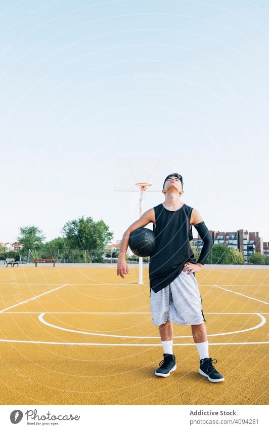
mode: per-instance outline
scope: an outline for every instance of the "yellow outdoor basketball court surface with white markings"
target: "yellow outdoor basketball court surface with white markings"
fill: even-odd
[[[150,314],[148,269],[0,269],[2,405],[265,405],[268,269],[196,273],[210,357],[225,381],[199,375],[191,327],[174,325],[177,369]]]

